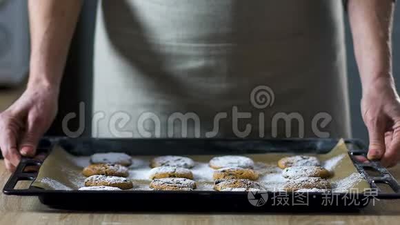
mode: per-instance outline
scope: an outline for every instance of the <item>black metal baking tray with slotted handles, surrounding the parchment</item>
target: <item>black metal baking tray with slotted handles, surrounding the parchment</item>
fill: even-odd
[[[72,155],[123,152],[130,155],[244,155],[266,153],[324,154],[339,139],[93,139],[45,137],[38,152],[48,155],[56,144]],[[52,208],[114,211],[332,211],[363,208],[375,199],[399,199],[400,186],[379,162],[363,164],[356,155],[366,155],[366,145],[358,139],[346,139],[349,154],[357,170],[370,184],[369,193],[247,193],[217,191],[79,191],[44,190],[30,186],[17,189],[21,180],[34,181],[42,160],[22,158],[17,170],[3,188],[6,195],[37,196]],[[368,170],[375,172],[370,176]],[[390,193],[378,183],[387,184]],[[255,206],[254,206],[255,205]]]

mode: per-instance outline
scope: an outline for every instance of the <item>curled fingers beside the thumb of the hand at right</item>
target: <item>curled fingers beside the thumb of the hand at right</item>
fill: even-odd
[[[386,152],[381,159],[381,164],[386,167],[396,166],[400,159],[400,124],[395,124],[393,132],[386,135]]]

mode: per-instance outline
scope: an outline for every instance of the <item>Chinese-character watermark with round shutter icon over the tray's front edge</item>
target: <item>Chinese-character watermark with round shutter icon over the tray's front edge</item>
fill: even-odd
[[[268,206],[367,206],[372,202],[375,205],[378,190],[365,188],[360,192],[358,188],[350,188],[346,193],[312,193],[312,192],[281,192],[277,191],[249,191],[248,202],[255,207]]]

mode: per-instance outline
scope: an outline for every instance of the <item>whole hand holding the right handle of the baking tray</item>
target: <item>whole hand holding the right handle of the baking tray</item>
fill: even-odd
[[[377,81],[363,90],[361,112],[368,128],[368,159],[392,167],[400,160],[400,98],[392,81]]]

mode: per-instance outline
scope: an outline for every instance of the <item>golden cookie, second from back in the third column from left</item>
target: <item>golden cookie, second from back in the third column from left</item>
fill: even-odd
[[[213,179],[259,179],[258,173],[250,168],[227,167],[214,170]]]

